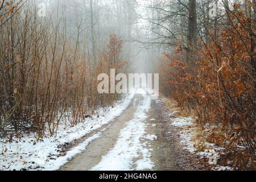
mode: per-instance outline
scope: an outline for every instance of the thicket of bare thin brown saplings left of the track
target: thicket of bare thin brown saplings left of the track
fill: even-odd
[[[56,135],[60,122],[73,126],[121,99],[97,92],[98,74],[125,72],[127,56],[121,38],[111,34],[114,24],[97,33],[105,24],[93,22],[99,17],[92,1],[85,9],[93,13],[77,11],[74,22],[65,2],[52,1],[46,17],[38,14],[42,1],[0,2],[0,137],[28,129],[38,138]]]

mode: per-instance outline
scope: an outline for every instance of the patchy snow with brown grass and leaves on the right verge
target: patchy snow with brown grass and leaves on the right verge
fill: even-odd
[[[196,133],[196,125],[191,117],[175,117],[175,114],[179,111],[171,111],[169,114],[171,117],[171,125],[180,129],[180,143],[183,148],[191,154],[196,154],[203,158],[209,159],[209,163],[213,164],[212,170],[232,170],[231,167],[217,166],[217,160],[219,154],[224,148],[218,147],[212,143],[208,143],[206,140],[199,140]],[[197,147],[204,146],[204,150],[198,151]]]

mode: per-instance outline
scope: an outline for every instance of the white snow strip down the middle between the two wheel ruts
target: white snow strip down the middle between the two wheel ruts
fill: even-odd
[[[120,131],[117,143],[108,154],[102,157],[101,162],[94,166],[92,171],[130,171],[152,169],[151,149],[148,143],[142,143],[143,139],[155,139],[155,136],[146,135],[147,111],[151,101],[146,92],[142,92],[144,100],[137,107],[134,119]],[[136,162],[135,162],[136,160]]]

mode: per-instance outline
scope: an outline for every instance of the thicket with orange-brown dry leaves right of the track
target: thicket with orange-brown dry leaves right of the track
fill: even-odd
[[[190,1],[187,5],[192,8]],[[255,1],[216,1],[216,5],[214,16],[207,21],[200,22],[197,15],[195,40],[188,27],[187,42],[178,38],[175,51],[163,53],[162,83],[168,85],[162,91],[171,94],[181,108],[193,111],[200,129],[210,127],[207,140],[225,147],[224,164],[232,160],[234,167],[254,168]],[[200,7],[198,2],[197,11]],[[187,12],[189,22],[195,11]]]

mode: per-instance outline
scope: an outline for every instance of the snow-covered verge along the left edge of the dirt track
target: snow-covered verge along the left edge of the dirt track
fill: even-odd
[[[85,150],[86,146],[95,138],[100,137],[100,132],[86,139],[79,146],[72,148],[64,156],[59,146],[72,143],[76,139],[84,137],[94,130],[100,129],[103,125],[112,121],[130,105],[134,94],[129,94],[122,102],[114,107],[109,107],[100,112],[100,117],[94,115],[85,119],[84,122],[69,128],[64,124],[60,125],[57,137],[44,138],[37,141],[31,133],[13,142],[0,140],[0,170],[57,170],[68,159]]]

